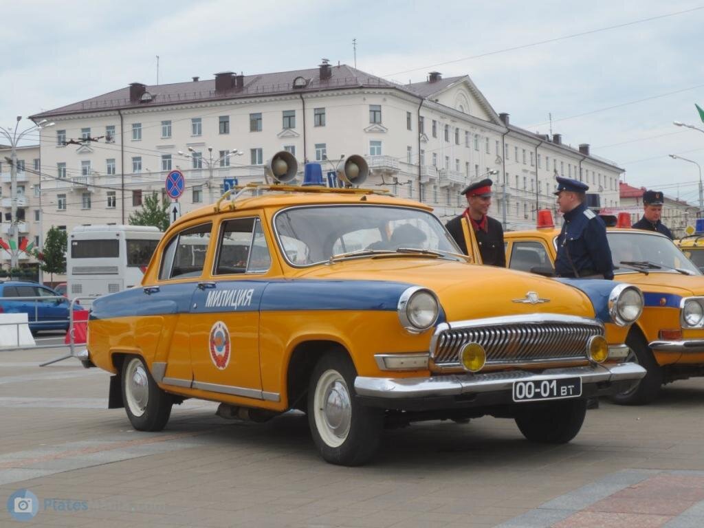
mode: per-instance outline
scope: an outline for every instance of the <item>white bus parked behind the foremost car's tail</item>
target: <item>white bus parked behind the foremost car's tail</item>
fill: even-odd
[[[68,237],[68,298],[138,286],[163,233],[142,225],[81,225]]]

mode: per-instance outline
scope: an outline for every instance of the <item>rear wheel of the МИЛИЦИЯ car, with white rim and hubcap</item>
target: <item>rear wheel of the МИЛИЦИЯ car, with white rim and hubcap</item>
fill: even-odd
[[[172,396],[159,389],[139,356],[127,356],[122,364],[122,401],[138,431],[161,431],[173,406]]]

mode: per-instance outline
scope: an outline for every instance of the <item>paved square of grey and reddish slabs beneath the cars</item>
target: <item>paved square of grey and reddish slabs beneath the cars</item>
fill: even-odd
[[[108,410],[108,375],[61,351],[0,351],[0,496],[39,511],[0,526],[700,527],[704,379],[648,407],[602,401],[564,446],[524,441],[513,420],[425,422],[384,433],[365,467],[328,465],[306,417],[263,425],[177,406],[161,433]]]

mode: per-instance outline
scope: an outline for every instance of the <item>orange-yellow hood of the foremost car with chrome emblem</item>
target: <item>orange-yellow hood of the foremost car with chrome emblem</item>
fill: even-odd
[[[425,287],[438,296],[448,321],[530,313],[594,317],[589,297],[553,279],[444,259],[403,256],[344,260],[302,270],[297,276],[406,282]],[[529,292],[537,294],[538,302],[529,302]]]

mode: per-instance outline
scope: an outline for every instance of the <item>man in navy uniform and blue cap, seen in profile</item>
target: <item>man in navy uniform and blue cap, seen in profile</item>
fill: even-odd
[[[589,186],[570,178],[558,177],[558,206],[565,220],[558,236],[558,277],[612,279],[611,249],[606,225],[584,200]]]

